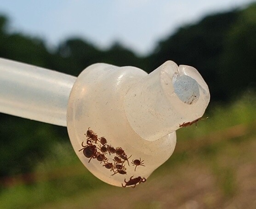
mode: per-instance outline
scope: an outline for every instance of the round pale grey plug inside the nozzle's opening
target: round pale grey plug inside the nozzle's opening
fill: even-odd
[[[174,75],[172,79],[175,94],[185,104],[191,105],[198,101],[200,93],[198,83],[188,75]]]

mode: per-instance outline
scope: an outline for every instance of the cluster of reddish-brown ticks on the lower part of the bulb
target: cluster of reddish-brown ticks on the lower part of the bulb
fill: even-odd
[[[108,145],[108,141],[105,137],[99,138],[95,132],[90,130],[90,128],[88,128],[88,130],[86,131],[85,136],[87,137],[86,145],[84,145],[84,141],[83,141],[81,144],[83,148],[80,149],[79,152],[83,150],[85,157],[90,158],[89,163],[91,159],[97,159],[97,161],[99,161],[100,163],[103,163],[102,165],[103,167],[113,172],[112,175],[127,174],[125,171],[126,170],[125,161],[127,161],[127,164],[130,166],[129,158],[131,158],[131,156],[127,157],[127,154],[121,147],[114,148],[111,145]],[[109,160],[108,154],[110,156],[114,155],[114,158],[112,158],[113,163],[108,162]],[[131,164],[135,165],[134,171],[136,171],[136,168],[139,165],[145,166],[143,161],[144,160],[141,160],[141,158],[132,160]],[[140,176],[137,178],[132,178],[132,177],[133,176],[131,176],[129,181],[125,181],[125,186],[134,185],[133,187],[135,187],[137,183],[146,181],[145,178],[141,178]],[[125,187],[123,184],[122,186]]]

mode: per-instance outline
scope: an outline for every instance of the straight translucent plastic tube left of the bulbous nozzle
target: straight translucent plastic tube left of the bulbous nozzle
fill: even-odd
[[[75,80],[71,75],[0,58],[0,112],[66,126]]]

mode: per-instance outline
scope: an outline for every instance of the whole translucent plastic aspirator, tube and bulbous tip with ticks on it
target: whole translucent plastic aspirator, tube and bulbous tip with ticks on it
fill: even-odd
[[[6,69],[1,67],[3,62],[9,70],[13,69],[10,66],[13,61],[0,59],[0,72]],[[16,68],[24,66],[28,68],[23,63],[18,63]],[[30,119],[58,125],[67,123],[70,141],[81,162],[99,179],[115,186],[134,187],[146,181],[173,153],[175,131],[202,117],[210,101],[208,86],[198,71],[190,66],[177,66],[172,61],[149,74],[135,67],[97,63],[85,68],[78,78],[34,68],[30,74],[42,70],[40,78],[36,77],[41,87],[33,86],[34,90],[30,90],[21,88],[25,84],[18,79],[14,81],[29,92],[30,97],[36,95],[39,101],[42,100],[39,97],[43,97],[46,102],[44,107],[40,104],[38,111],[46,111],[45,119],[40,120],[37,113],[29,114],[25,101],[22,101],[23,114],[10,111],[10,105],[8,110],[3,108],[8,101],[11,101],[9,104],[20,102],[8,97],[6,90],[0,91],[0,96],[5,95],[5,99],[0,100],[0,112],[28,118],[27,112]],[[8,85],[6,79],[2,80]],[[50,89],[46,86],[49,84]],[[44,92],[45,89],[48,92]],[[13,96],[14,91],[8,85],[7,92]],[[57,100],[51,94],[57,96]],[[36,106],[37,102],[33,104]],[[16,106],[13,108],[17,110]],[[32,110],[35,109],[33,106]]]

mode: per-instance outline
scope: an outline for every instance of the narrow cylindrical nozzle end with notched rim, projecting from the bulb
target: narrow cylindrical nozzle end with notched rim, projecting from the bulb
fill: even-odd
[[[200,118],[209,101],[208,86],[195,68],[167,61],[131,86],[124,108],[133,130],[155,141]]]

